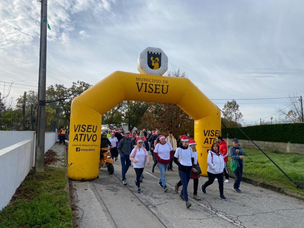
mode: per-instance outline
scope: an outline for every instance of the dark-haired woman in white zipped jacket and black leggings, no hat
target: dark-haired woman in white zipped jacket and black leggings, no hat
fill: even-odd
[[[227,200],[224,196],[224,174],[223,169],[225,167],[225,162],[223,155],[219,152],[219,144],[213,143],[211,146],[211,150],[208,151],[207,157],[207,174],[208,181],[205,184],[201,185],[202,192],[206,194],[206,188],[209,185],[212,185],[214,179],[217,178],[219,182],[219,198],[223,200]]]

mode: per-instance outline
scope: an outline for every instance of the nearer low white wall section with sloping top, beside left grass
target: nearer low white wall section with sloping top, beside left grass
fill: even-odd
[[[32,140],[23,140],[0,150],[0,210],[32,168]]]

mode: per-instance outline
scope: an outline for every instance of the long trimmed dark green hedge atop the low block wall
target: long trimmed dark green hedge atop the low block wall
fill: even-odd
[[[304,123],[271,124],[241,127],[252,140],[269,142],[291,142],[304,144]],[[228,128],[228,138],[247,139],[247,137],[236,127]],[[222,137],[227,137],[228,131],[222,128]]]

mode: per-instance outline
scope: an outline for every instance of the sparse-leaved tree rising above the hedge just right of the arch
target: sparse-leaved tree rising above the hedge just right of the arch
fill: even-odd
[[[222,122],[226,127],[242,126],[244,122],[243,115],[239,110],[239,106],[235,100],[227,101],[223,108]]]

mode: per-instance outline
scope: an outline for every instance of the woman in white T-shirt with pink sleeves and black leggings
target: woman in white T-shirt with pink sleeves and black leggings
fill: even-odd
[[[147,164],[150,164],[150,159],[146,148],[143,148],[143,140],[137,139],[137,145],[134,147],[130,154],[130,160],[133,162],[133,168],[136,173],[136,180],[134,180],[137,186],[137,193],[140,193],[140,175],[143,173],[145,167],[145,160]]]

